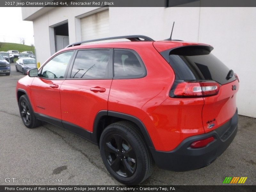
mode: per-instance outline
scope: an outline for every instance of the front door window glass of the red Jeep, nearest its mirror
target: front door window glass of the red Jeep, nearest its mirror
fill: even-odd
[[[74,51],[60,53],[43,67],[41,76],[48,79],[63,78]]]

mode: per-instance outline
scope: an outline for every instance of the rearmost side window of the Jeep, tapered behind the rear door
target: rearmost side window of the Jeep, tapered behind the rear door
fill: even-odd
[[[114,76],[141,77],[146,74],[144,66],[131,51],[115,50],[114,52]]]

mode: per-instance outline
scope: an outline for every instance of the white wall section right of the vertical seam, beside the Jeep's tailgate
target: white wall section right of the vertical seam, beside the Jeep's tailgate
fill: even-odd
[[[237,73],[238,113],[256,117],[256,8],[202,7],[199,42],[211,44],[212,53]]]

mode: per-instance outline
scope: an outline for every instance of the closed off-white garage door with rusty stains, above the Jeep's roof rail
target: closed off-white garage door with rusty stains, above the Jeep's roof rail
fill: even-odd
[[[82,41],[109,36],[108,10],[81,18]]]

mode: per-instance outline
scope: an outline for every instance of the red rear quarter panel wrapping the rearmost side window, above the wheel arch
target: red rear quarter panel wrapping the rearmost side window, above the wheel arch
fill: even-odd
[[[132,49],[140,55],[147,68],[147,76],[114,79],[109,93],[108,110],[129,114],[143,121],[169,97],[174,72],[152,44],[122,48]]]

